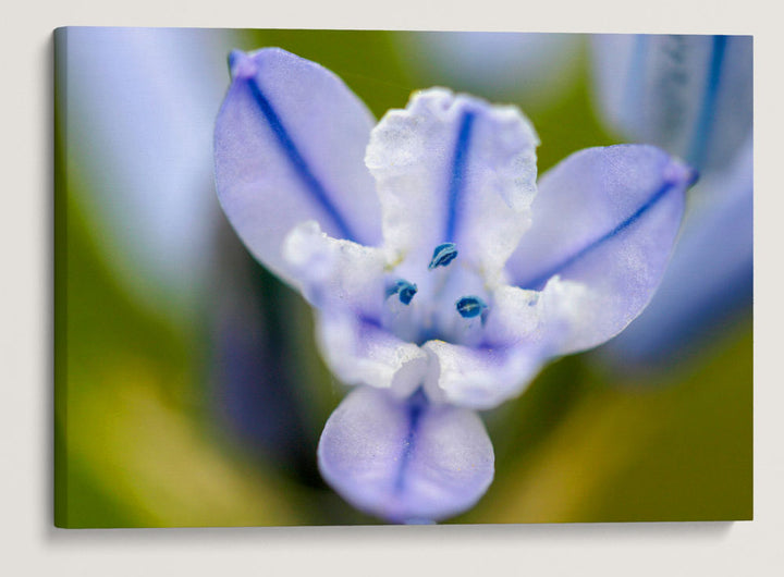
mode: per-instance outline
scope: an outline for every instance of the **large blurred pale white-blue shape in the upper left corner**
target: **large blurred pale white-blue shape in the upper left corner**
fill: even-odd
[[[68,28],[65,154],[107,260],[147,306],[188,310],[218,205],[212,126],[229,30]]]

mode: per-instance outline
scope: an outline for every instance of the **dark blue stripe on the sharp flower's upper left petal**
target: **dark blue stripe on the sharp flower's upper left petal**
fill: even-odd
[[[272,133],[275,135],[275,138],[278,138],[278,144],[280,144],[285,156],[294,167],[297,176],[299,176],[303,184],[305,184],[305,187],[308,189],[313,198],[321,206],[324,212],[329,214],[343,238],[357,241],[357,237],[351,226],[348,226],[348,223],[343,219],[341,213],[332,204],[329,194],[318,179],[316,179],[310,170],[310,167],[299,154],[299,149],[292,140],[289,132],[285,130],[285,126],[283,126],[280,116],[265,96],[261,87],[258,85],[258,82],[255,78],[248,78],[248,86],[250,87],[250,93],[253,94],[256,103],[259,106],[261,113],[265,115],[267,122],[269,122]]]

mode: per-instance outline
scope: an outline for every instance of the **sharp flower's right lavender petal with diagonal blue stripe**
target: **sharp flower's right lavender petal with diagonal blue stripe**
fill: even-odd
[[[587,300],[560,353],[603,343],[648,304],[666,267],[694,172],[651,146],[589,148],[546,174],[534,224],[507,262],[513,284],[577,281]]]

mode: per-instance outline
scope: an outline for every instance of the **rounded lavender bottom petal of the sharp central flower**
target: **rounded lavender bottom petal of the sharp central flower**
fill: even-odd
[[[421,392],[352,392],[324,426],[318,447],[327,482],[352,505],[396,523],[456,515],[493,478],[493,450],[470,410],[429,404]]]

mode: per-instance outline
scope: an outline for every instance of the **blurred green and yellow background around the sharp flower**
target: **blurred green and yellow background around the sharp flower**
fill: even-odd
[[[616,142],[595,113],[583,37],[564,37],[565,56],[549,61],[555,82],[504,66],[497,83],[478,84],[430,58],[429,33],[191,34],[315,60],[377,118],[432,85],[517,103],[541,138],[540,173],[575,150]],[[247,255],[209,179],[191,193],[209,207],[206,225],[194,229],[207,236],[194,242],[209,247],[203,273],[183,272],[186,290],[169,282],[179,261],[171,278],[148,275],[144,259],[112,236],[144,212],[114,221],[96,209],[117,192],[83,152],[78,126],[89,107],[74,101],[71,39],[56,42],[56,525],[379,523],[345,504],[316,468],[318,437],[345,389],[316,351],[309,308]],[[215,62],[224,67],[225,56],[216,51]],[[225,72],[218,93],[228,83]],[[112,155],[105,144],[113,140],[98,142]],[[204,148],[209,162],[209,139]],[[654,372],[618,370],[598,353],[564,358],[485,415],[495,480],[449,523],[749,519],[751,419],[750,303],[698,355]]]

